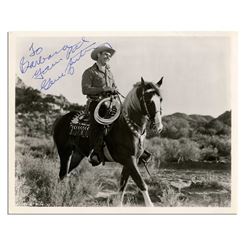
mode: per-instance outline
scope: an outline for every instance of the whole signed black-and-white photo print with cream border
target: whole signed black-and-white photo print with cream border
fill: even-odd
[[[9,212],[235,213],[236,37],[9,33]]]

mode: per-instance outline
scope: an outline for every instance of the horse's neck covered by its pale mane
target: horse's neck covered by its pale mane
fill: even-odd
[[[136,89],[132,89],[127,95],[123,103],[123,111],[133,123],[140,127],[142,131],[145,130],[147,118],[142,114],[140,101],[136,95]]]

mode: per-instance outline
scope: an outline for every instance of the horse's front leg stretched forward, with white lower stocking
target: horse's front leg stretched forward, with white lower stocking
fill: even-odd
[[[137,167],[136,158],[134,156],[130,157],[127,160],[126,167],[129,169],[129,173],[130,173],[131,178],[136,183],[136,185],[139,187],[139,189],[143,195],[145,205],[147,207],[153,207],[154,205],[153,205],[153,203],[149,197],[149,194],[148,194],[148,187],[141,177],[141,174],[140,174],[138,167]]]

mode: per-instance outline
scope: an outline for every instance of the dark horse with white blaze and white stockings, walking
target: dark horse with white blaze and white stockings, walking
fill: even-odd
[[[163,128],[160,90],[162,82],[163,77],[157,83],[146,82],[141,77],[141,81],[135,84],[126,96],[120,116],[105,136],[110,155],[115,162],[123,166],[118,194],[119,206],[123,204],[129,177],[140,189],[145,205],[153,206],[148,187],[138,170],[138,162],[144,152],[143,140],[147,123],[158,133]],[[70,135],[70,122],[76,114],[77,112],[71,111],[61,116],[55,121],[53,128],[53,139],[60,158],[61,180],[68,176],[84,157],[88,157],[92,150],[88,138]]]

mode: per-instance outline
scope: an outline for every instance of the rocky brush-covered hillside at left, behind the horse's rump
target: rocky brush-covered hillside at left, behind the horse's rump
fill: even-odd
[[[16,128],[28,136],[49,136],[56,118],[82,106],[70,103],[64,96],[43,94],[16,78]]]

